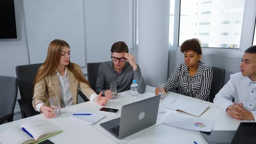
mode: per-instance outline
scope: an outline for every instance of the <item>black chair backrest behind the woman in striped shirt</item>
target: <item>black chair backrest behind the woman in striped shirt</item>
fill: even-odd
[[[212,87],[210,91],[210,102],[213,102],[215,95],[223,87],[225,72],[226,72],[225,69],[221,69],[213,66],[212,66],[212,69],[213,69],[213,82],[212,82]]]

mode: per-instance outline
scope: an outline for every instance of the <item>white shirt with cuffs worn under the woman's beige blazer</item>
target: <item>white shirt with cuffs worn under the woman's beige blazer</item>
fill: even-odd
[[[70,87],[69,87],[69,77],[67,75],[67,69],[65,69],[65,74],[62,76],[59,74],[58,70],[56,69],[57,76],[59,79],[59,86],[60,86],[60,92],[61,92],[61,106],[62,108],[71,106],[73,103],[73,98],[70,92]],[[97,98],[97,94],[93,93],[90,95],[89,100],[90,101],[95,101]],[[45,105],[44,103],[39,103],[36,105],[36,111],[40,111],[40,108],[42,105]]]

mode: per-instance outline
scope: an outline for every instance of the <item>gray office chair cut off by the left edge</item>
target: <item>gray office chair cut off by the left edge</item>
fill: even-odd
[[[18,92],[17,79],[0,76],[0,124],[13,121],[14,107]]]

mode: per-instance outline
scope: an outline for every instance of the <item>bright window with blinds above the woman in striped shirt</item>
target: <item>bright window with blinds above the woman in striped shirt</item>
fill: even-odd
[[[179,46],[197,38],[202,47],[239,49],[244,1],[181,0]]]

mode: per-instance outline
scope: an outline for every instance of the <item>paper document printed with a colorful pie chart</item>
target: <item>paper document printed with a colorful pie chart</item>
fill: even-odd
[[[204,120],[202,118],[196,118],[193,116],[171,113],[164,119],[163,124],[191,131],[210,132],[213,129],[214,121]]]

